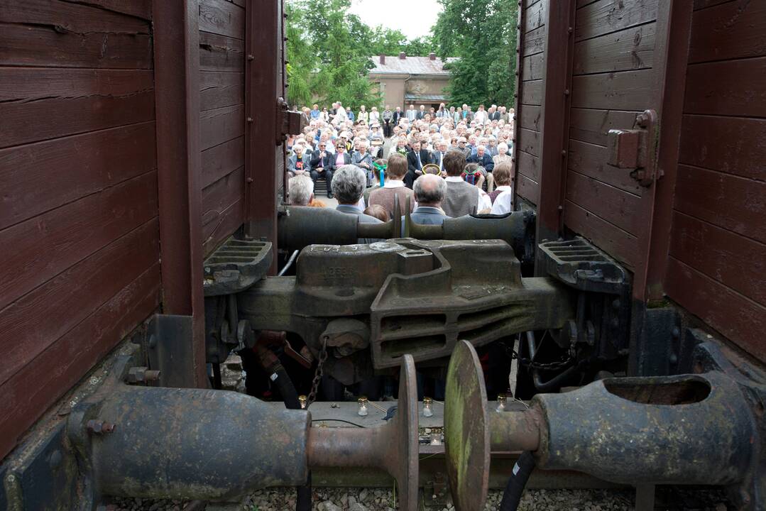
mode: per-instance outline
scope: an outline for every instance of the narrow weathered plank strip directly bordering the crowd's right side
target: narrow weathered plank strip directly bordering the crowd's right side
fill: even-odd
[[[519,24],[520,76],[516,100],[516,194],[536,205],[540,195],[540,132],[545,72],[545,22],[550,0],[522,2]]]

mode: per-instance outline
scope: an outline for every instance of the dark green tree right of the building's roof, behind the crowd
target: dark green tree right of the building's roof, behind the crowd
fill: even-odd
[[[516,73],[517,2],[440,0],[433,29],[438,54],[450,64],[450,103],[511,106]]]

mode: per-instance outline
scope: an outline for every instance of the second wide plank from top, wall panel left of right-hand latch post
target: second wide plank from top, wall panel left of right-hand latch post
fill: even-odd
[[[575,74],[646,69],[654,62],[656,23],[626,28],[575,44]]]

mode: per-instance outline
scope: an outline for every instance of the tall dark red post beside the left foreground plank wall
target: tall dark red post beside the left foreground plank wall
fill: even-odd
[[[162,312],[193,318],[191,367],[205,372],[198,0],[153,2]]]

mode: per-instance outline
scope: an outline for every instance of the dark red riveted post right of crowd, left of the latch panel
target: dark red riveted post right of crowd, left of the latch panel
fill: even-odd
[[[575,0],[548,2],[540,127],[538,243],[557,239],[563,226],[575,8]]]

